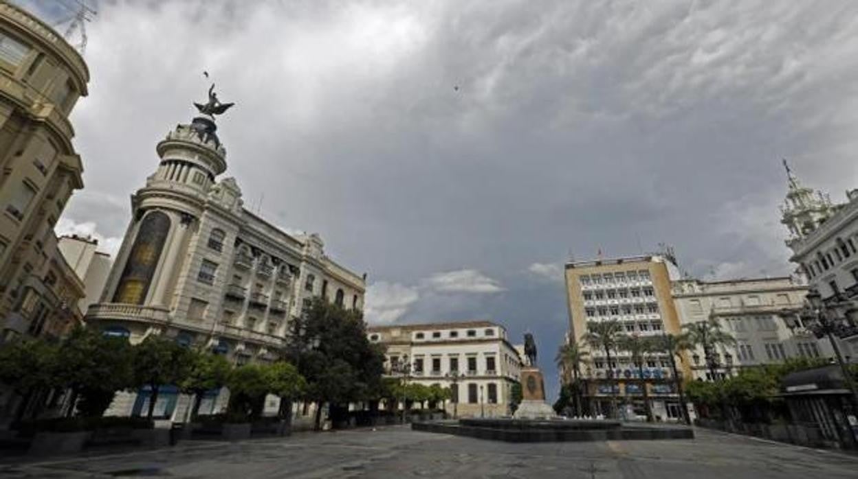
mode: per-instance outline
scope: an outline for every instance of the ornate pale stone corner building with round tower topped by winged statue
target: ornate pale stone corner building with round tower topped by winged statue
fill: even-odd
[[[158,143],[160,164],[131,197],[122,247],[86,319],[132,343],[160,334],[236,363],[271,361],[313,296],[363,308],[366,274],[331,260],[317,234],[290,235],[245,209],[235,180],[219,179],[227,151],[215,132],[214,117],[200,116]]]

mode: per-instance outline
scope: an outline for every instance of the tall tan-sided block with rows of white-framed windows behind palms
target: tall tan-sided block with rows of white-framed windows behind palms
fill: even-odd
[[[662,420],[680,418],[670,359],[652,353],[644,357],[644,377],[627,351],[612,351],[611,363],[604,350],[584,341],[588,325],[617,320],[628,335],[650,337],[680,332],[680,320],[671,296],[671,281],[680,277],[669,254],[649,254],[608,260],[573,261],[565,265],[569,306],[569,338],[589,351],[583,365],[585,399],[593,413],[606,414],[614,397],[644,415],[643,389],[647,387],[654,416]]]

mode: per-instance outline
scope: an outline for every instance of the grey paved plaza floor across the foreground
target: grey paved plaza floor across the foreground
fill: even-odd
[[[694,440],[511,444],[389,427],[23,462],[0,478],[858,477],[858,457],[697,429]]]

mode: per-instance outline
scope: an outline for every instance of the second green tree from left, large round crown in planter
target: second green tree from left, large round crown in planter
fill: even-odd
[[[55,385],[71,392],[66,416],[82,399],[83,414],[101,416],[113,395],[132,384],[130,344],[125,338],[107,337],[95,329],[77,327],[57,350]]]

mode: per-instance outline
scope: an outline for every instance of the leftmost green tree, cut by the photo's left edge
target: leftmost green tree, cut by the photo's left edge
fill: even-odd
[[[27,412],[36,392],[57,385],[56,361],[57,345],[42,339],[24,339],[0,348],[0,383],[11,386],[23,398],[15,414],[17,419]],[[33,410],[34,414],[38,412]]]

